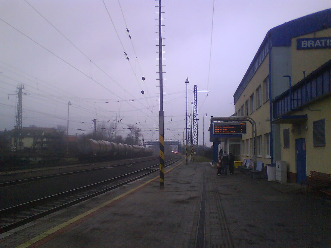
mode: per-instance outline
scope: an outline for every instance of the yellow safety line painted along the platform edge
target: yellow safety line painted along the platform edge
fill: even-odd
[[[173,170],[173,169],[176,168],[177,166],[181,165],[183,162],[184,162],[184,161],[182,161],[182,162],[179,163],[178,165],[176,165],[176,166],[170,168],[169,170],[166,171],[166,173],[170,172],[171,170]],[[35,236],[34,238],[32,238],[32,239],[30,239],[30,240],[24,242],[23,244],[20,244],[20,245],[16,246],[16,248],[25,248],[25,247],[29,247],[30,245],[32,245],[32,244],[38,242],[39,240],[41,240],[41,239],[43,239],[43,238],[45,238],[45,237],[51,235],[52,233],[54,233],[54,232],[56,232],[56,231],[58,231],[58,230],[60,230],[60,229],[62,229],[62,228],[64,228],[64,227],[67,227],[68,225],[70,225],[70,224],[72,224],[72,223],[74,223],[74,222],[76,222],[76,221],[78,221],[78,220],[84,218],[85,216],[87,216],[87,215],[89,215],[89,214],[91,214],[91,213],[93,213],[93,212],[99,210],[100,208],[102,208],[102,207],[104,207],[104,206],[107,206],[107,205],[111,204],[112,202],[114,202],[114,201],[116,201],[116,200],[118,200],[118,199],[120,199],[120,198],[122,198],[122,197],[124,197],[124,196],[126,196],[126,195],[128,195],[128,194],[130,194],[130,193],[133,192],[133,191],[138,190],[139,188],[141,188],[141,187],[143,187],[143,186],[145,186],[145,185],[147,185],[147,184],[149,184],[149,183],[151,183],[151,182],[157,180],[158,178],[159,178],[159,176],[157,176],[157,177],[155,177],[155,178],[152,178],[151,180],[149,180],[149,181],[147,181],[147,182],[145,182],[145,183],[143,183],[143,184],[141,184],[141,185],[139,185],[139,186],[137,186],[137,187],[135,187],[135,188],[133,188],[133,189],[130,189],[130,190],[126,191],[125,193],[123,193],[123,194],[121,194],[121,195],[118,195],[118,196],[114,197],[113,199],[111,199],[111,200],[109,200],[109,201],[106,201],[105,203],[103,203],[103,204],[101,204],[101,205],[99,205],[99,206],[97,206],[97,207],[95,207],[95,208],[92,208],[92,209],[86,211],[85,213],[82,213],[82,214],[80,214],[80,215],[78,215],[78,216],[76,216],[76,217],[74,217],[74,218],[72,218],[72,219],[70,219],[70,220],[68,220],[68,221],[66,221],[66,222],[64,222],[64,223],[62,223],[62,224],[60,224],[60,225],[58,225],[58,226],[56,226],[56,227],[53,227],[53,228],[51,228],[51,229],[49,229],[49,230],[47,230],[47,231],[45,231],[45,232],[43,232],[43,233],[41,233],[41,234]]]

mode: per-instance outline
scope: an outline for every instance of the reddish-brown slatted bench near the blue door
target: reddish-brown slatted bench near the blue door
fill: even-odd
[[[317,171],[310,171],[307,181],[301,182],[300,191],[302,189],[302,185],[307,184],[306,194],[308,194],[308,190],[311,187],[312,192],[314,194],[313,200],[315,200],[316,195],[320,189],[331,187],[330,178],[331,178],[330,174],[317,172]]]

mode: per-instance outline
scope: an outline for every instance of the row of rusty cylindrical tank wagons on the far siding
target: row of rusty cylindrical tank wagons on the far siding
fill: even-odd
[[[152,155],[151,148],[109,141],[83,139],[78,143],[79,161],[116,159],[123,157],[143,157]]]

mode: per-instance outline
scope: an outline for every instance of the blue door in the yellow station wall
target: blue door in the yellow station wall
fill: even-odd
[[[306,169],[306,139],[295,140],[296,162],[297,162],[297,183],[307,180]]]

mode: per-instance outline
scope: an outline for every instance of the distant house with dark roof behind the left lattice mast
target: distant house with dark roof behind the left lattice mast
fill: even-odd
[[[15,129],[12,130],[15,134]],[[21,149],[47,149],[49,144],[56,138],[56,129],[50,127],[23,127],[21,132]],[[12,136],[14,147],[15,136]]]

